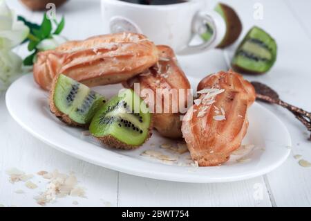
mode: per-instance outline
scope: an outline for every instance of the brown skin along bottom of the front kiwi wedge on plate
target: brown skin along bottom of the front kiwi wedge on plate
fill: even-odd
[[[148,129],[148,135],[147,138],[145,139],[144,143],[146,143],[149,138],[152,136],[152,130],[153,130],[153,123],[152,123],[152,118],[151,118],[151,126]],[[144,143],[141,145],[129,145],[126,143],[123,143],[121,141],[118,141],[114,136],[111,135],[106,135],[102,137],[96,137],[98,140],[100,140],[102,143],[108,145],[111,148],[117,148],[121,150],[134,150],[142,146]]]

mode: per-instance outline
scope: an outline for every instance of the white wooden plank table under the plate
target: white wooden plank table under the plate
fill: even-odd
[[[216,1],[210,1],[214,6]],[[311,1],[309,0],[261,0],[263,20],[253,17],[256,0],[225,1],[236,8],[243,18],[245,33],[256,24],[276,38],[279,57],[276,65],[263,76],[246,76],[271,85],[281,98],[304,109],[311,110]],[[41,12],[30,12],[19,1],[8,5],[19,15],[40,22]],[[100,1],[71,0],[57,10],[57,17],[66,16],[63,35],[69,39],[84,39],[103,34],[101,30]],[[235,46],[227,51],[209,51],[206,59],[210,68],[196,76],[227,69],[227,60]],[[17,48],[26,55],[24,47]],[[187,62],[182,62],[187,67]],[[194,74],[194,73],[189,73]],[[21,91],[22,93],[22,91]],[[293,155],[301,154],[311,161],[311,141],[305,127],[292,114],[279,107],[266,105],[288,126],[292,134],[292,155],[272,173],[242,182],[227,184],[181,184],[134,177],[100,168],[69,157],[32,137],[8,114],[4,95],[0,99],[0,204],[4,206],[39,206],[33,196],[36,190],[25,188],[23,183],[10,184],[7,168],[16,167],[26,173],[58,169],[74,171],[79,184],[86,187],[86,199],[57,200],[48,206],[311,206],[311,168],[299,166]],[[26,193],[17,194],[22,188]],[[262,195],[258,191],[261,191]],[[259,192],[260,193],[260,192]]]

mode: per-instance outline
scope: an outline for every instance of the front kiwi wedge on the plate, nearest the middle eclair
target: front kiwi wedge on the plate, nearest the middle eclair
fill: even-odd
[[[151,136],[151,114],[132,89],[123,89],[95,114],[90,132],[111,147],[137,148]]]

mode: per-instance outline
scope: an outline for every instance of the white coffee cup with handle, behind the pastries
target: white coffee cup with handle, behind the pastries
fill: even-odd
[[[120,0],[102,0],[105,33],[133,32],[147,35],[155,44],[171,46],[180,55],[200,53],[216,47],[225,36],[223,18],[207,11],[207,1],[188,0],[170,5],[141,5]],[[195,35],[206,31],[213,34],[209,41],[190,45]]]

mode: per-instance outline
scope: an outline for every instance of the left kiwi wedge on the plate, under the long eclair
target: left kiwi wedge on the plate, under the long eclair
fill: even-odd
[[[55,78],[50,93],[51,112],[74,126],[89,125],[97,110],[106,102],[104,96],[63,74]]]

